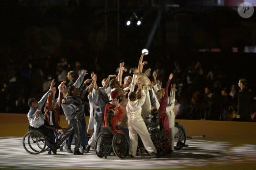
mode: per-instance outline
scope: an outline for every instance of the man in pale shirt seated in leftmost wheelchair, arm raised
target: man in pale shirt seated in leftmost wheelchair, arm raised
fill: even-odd
[[[36,98],[30,98],[28,100],[28,105],[30,106],[30,110],[27,114],[27,118],[30,123],[30,129],[40,130],[45,137],[47,137],[46,145],[51,148],[55,142],[54,136],[54,128],[45,126],[45,119],[43,113],[41,112],[42,107],[47,100],[47,97],[50,93],[53,93],[53,86],[55,85],[54,79],[52,80],[49,91],[47,91],[40,101]]]

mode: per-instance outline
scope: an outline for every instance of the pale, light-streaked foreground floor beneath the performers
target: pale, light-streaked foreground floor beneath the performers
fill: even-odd
[[[22,137],[0,138],[0,169],[256,169],[256,145],[234,146],[228,142],[187,139],[187,148],[153,158],[136,156],[120,159],[98,158],[91,149],[83,156],[57,151],[31,155],[25,151]]]

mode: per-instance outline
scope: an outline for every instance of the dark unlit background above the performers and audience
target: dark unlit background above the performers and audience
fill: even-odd
[[[34,70],[43,69],[49,59],[55,73],[57,63],[64,56],[72,66],[80,61],[84,69],[98,73],[98,80],[101,80],[115,73],[121,61],[128,68],[136,67],[141,50],[147,46],[149,55],[144,58],[148,61],[145,68],[155,70],[155,63],[160,62],[166,80],[173,72],[173,61],[179,62],[184,72],[193,62],[200,61],[205,75],[216,67],[224,72],[226,87],[245,78],[248,86],[255,90],[256,53],[244,51],[245,46],[256,46],[256,14],[241,18],[234,5],[238,1],[233,2],[1,0],[1,84],[8,84],[11,74],[15,74],[18,83],[14,87],[9,85],[13,94],[8,100],[20,98],[21,86],[26,90],[27,100],[31,97],[29,91],[37,84],[33,82],[38,80],[36,77],[31,81],[31,75],[27,75],[29,63]],[[134,18],[133,12],[142,17],[142,25],[127,27],[125,23],[128,18]],[[159,14],[161,19],[155,22]],[[152,41],[148,41],[151,35]],[[238,52],[232,52],[233,47]],[[211,52],[212,49],[220,52]],[[1,94],[3,96],[6,94]],[[27,112],[26,109],[24,106],[8,111]]]

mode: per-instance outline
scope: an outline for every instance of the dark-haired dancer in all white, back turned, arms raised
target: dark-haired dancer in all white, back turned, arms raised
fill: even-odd
[[[136,156],[136,151],[138,147],[138,134],[143,142],[144,147],[147,149],[149,154],[154,157],[157,151],[153,145],[150,134],[147,130],[146,124],[141,117],[141,106],[144,104],[146,94],[143,90],[141,83],[138,83],[139,90],[141,91],[141,98],[137,99],[137,95],[134,90],[134,85],[136,83],[136,75],[132,78],[132,87],[129,93],[128,104],[126,106],[126,112],[128,116],[128,129],[130,136],[130,156]]]

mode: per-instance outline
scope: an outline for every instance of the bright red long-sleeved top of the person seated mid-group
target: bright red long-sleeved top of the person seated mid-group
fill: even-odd
[[[107,117],[108,117],[109,108],[111,108],[111,107],[116,108],[116,105],[112,105],[110,103],[106,104],[105,113],[104,113],[105,127],[108,127]],[[115,131],[115,133],[117,133],[117,132],[124,133],[122,130],[116,130],[117,122],[120,121],[123,117],[124,117],[124,109],[122,108],[122,106],[118,106],[116,108],[115,115],[111,119],[111,125],[112,125],[113,130]]]

